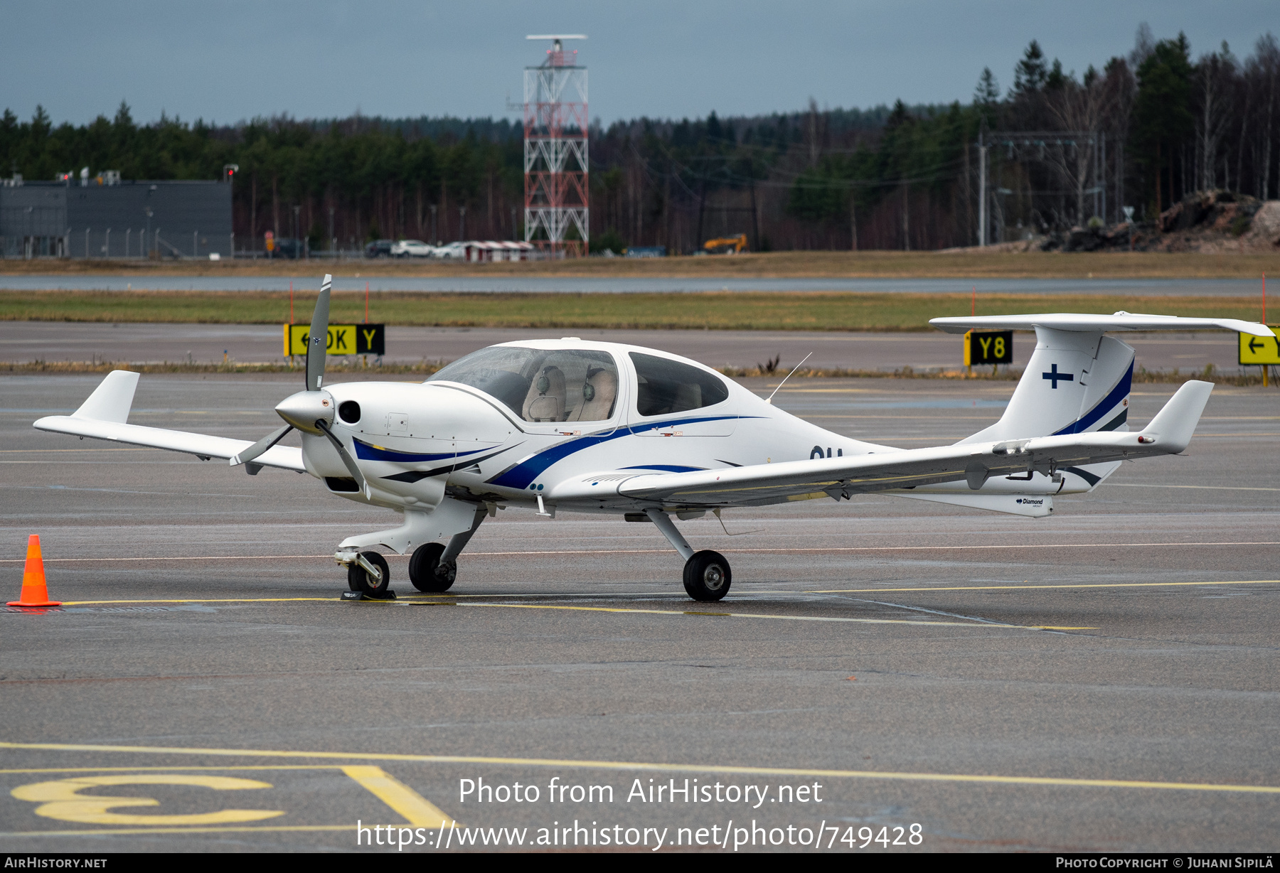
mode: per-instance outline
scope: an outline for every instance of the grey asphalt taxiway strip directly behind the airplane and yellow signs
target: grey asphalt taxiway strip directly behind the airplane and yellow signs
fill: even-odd
[[[566,333],[616,343],[632,343],[684,355],[713,367],[754,367],[774,356],[783,370],[812,355],[806,367],[892,372],[959,369],[963,338],[928,333],[854,333],[785,330],[591,330],[584,328],[398,328],[387,329],[389,364],[452,361],[492,346]],[[1171,334],[1124,334],[1138,351],[1137,365],[1149,371],[1199,371],[1213,365],[1238,372],[1236,334],[1222,330]],[[1014,367],[1021,369],[1036,346],[1034,335],[1014,337]],[[195,361],[264,362],[283,360],[279,325],[96,324],[67,321],[0,321],[0,361],[122,361],[161,364]],[[1256,369],[1249,367],[1257,372]]]

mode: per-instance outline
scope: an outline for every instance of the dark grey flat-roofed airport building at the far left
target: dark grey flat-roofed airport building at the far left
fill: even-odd
[[[227,182],[0,179],[0,257],[230,257]]]

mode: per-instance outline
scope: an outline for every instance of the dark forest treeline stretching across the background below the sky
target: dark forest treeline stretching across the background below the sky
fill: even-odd
[[[1270,33],[1243,60],[1225,44],[1193,58],[1184,36],[1143,26],[1128,56],[1079,76],[1033,41],[1007,92],[986,69],[969,104],[596,124],[591,247],[690,252],[746,233],[756,250],[927,250],[974,244],[983,216],[1000,241],[1115,223],[1124,206],[1152,220],[1198,189],[1275,197],[1277,86]],[[314,248],[503,239],[522,237],[521,136],[502,119],[137,124],[122,104],[55,127],[5,110],[0,169],[214,179],[238,164],[236,233],[259,248],[266,230]]]

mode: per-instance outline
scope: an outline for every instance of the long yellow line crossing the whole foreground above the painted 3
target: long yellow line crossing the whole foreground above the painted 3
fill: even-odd
[[[970,782],[995,785],[1030,785],[1030,786],[1057,786],[1057,787],[1096,787],[1096,789],[1155,789],[1175,791],[1226,791],[1236,794],[1275,794],[1280,795],[1280,786],[1271,785],[1230,785],[1213,782],[1160,782],[1152,780],[1082,780],[1052,776],[995,776],[980,773],[910,773],[895,771],[854,771],[854,769],[812,769],[812,768],[786,768],[786,767],[736,767],[714,764],[664,764],[652,762],[627,760],[580,760],[561,758],[489,758],[477,755],[412,755],[376,751],[289,751],[268,749],[210,749],[210,748],[180,748],[180,746],[116,746],[116,745],[91,745],[91,744],[64,744],[64,742],[4,742],[0,749],[20,749],[38,751],[109,751],[132,753],[148,755],[221,755],[232,758],[321,758],[338,760],[378,760],[378,762],[404,762],[419,764],[497,764],[516,767],[559,767],[573,769],[602,769],[602,771],[643,771],[650,773],[726,773],[740,776],[792,776],[792,777],[823,777],[823,778],[850,778],[850,780],[899,780],[913,782]],[[319,829],[323,826],[312,826]],[[214,828],[223,829],[223,828]],[[253,828],[266,829],[266,828]],[[143,833],[156,833],[147,829]],[[102,833],[93,831],[92,833]],[[119,833],[111,831],[111,833]]]

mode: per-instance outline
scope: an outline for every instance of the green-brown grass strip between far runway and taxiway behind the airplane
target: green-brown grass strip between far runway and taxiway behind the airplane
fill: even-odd
[[[294,294],[293,317],[306,321],[314,294]],[[369,319],[390,325],[531,329],[690,330],[929,330],[940,316],[969,315],[969,294],[918,293],[417,293],[383,292]],[[986,294],[979,314],[1098,312],[1256,320],[1253,297],[1126,297]],[[333,294],[333,324],[362,321],[365,296]],[[120,321],[200,324],[283,324],[288,292],[101,292],[4,291],[4,321]]]

